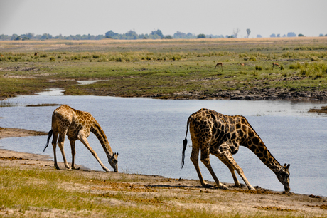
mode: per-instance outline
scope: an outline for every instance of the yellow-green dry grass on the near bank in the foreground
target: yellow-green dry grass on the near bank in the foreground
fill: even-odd
[[[219,199],[187,192],[167,195],[158,189],[133,185],[124,178],[90,179],[76,171],[0,167],[0,212],[14,209],[11,217],[28,217],[30,212],[33,217],[42,217],[44,212],[63,217],[253,217],[178,206],[217,204]],[[149,194],[135,194],[139,192]],[[272,216],[257,213],[255,217]]]

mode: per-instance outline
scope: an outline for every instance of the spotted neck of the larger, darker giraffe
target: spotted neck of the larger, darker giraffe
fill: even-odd
[[[277,174],[277,172],[282,169],[282,165],[280,165],[274,156],[272,156],[272,153],[269,152],[266,145],[264,145],[264,142],[262,142],[257,133],[253,131],[253,133],[250,133],[249,135],[252,135],[252,137],[245,140],[245,142],[242,144],[252,150],[252,152],[254,152],[254,154],[257,155],[257,157],[259,157],[259,159],[264,163],[264,165]]]

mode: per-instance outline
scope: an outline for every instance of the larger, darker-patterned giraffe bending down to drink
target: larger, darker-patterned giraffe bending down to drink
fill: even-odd
[[[234,170],[242,177],[242,180],[249,190],[255,190],[254,187],[250,185],[250,182],[247,181],[242,168],[237,165],[232,157],[232,155],[237,153],[240,145],[242,145],[252,150],[264,165],[275,173],[279,182],[284,185],[285,192],[291,190],[289,188],[290,165],[285,164],[282,166],[279,164],[245,117],[240,115],[223,115],[214,110],[203,108],[193,113],[188,118],[186,137],[188,134],[188,125],[190,126],[192,139],[191,160],[195,166],[196,172],[198,172],[198,177],[203,187],[210,187],[210,185],[203,180],[200,172],[198,165],[199,150],[201,150],[200,160],[208,168],[218,188],[227,189],[227,187],[218,180],[215,172],[213,172],[210,165],[210,154],[218,157],[229,168],[236,187],[240,187],[240,182],[238,182]],[[185,140],[183,140],[182,168],[187,145],[186,137]]]

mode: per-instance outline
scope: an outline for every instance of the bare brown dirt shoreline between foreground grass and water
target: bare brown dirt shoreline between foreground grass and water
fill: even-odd
[[[33,130],[20,130],[11,128],[0,128],[0,139],[4,137],[23,137],[31,135],[40,135],[40,132]],[[45,133],[42,133],[45,135]],[[0,149],[0,167],[20,167],[21,169],[38,168],[43,170],[54,170],[53,161],[49,160],[48,155],[36,155],[23,152],[15,152],[11,150]],[[63,162],[59,163],[60,169],[65,170]],[[80,175],[89,178],[104,179],[107,177],[107,172],[88,170],[85,167],[79,166]],[[117,182],[122,185],[132,185],[137,187],[151,187],[156,189],[156,194],[165,195],[203,195],[203,197],[210,197],[218,199],[213,204],[201,203],[183,203],[181,207],[199,207],[211,209],[215,212],[235,212],[235,208],[243,215],[267,214],[277,216],[303,216],[303,217],[327,217],[327,197],[309,195],[309,194],[283,194],[272,190],[257,187],[257,191],[247,190],[243,185],[241,188],[234,187],[233,184],[228,184],[229,190],[219,190],[215,188],[200,187],[198,180],[171,179],[158,175],[135,175],[128,173],[114,173],[109,172],[110,177],[114,180],[122,176],[130,178],[131,181],[137,182]],[[137,180],[135,180],[137,178]],[[209,182],[214,185],[213,182]],[[84,189],[94,190],[96,187],[89,187],[85,185]],[[98,187],[99,190],[101,187]],[[133,192],[133,190],[132,190]],[[134,194],[144,194],[144,192],[133,192]],[[224,200],[222,200],[224,199]],[[0,216],[4,209],[0,209]],[[15,213],[15,212],[14,212]]]

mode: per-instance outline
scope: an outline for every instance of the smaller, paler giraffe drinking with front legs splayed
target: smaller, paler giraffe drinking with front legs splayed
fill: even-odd
[[[75,110],[74,108],[70,108],[68,105],[61,105],[59,108],[55,109],[53,111],[52,115],[52,127],[51,130],[48,133],[48,141],[44,147],[43,152],[48,147],[49,140],[51,136],[53,135],[52,145],[53,145],[53,153],[54,153],[54,159],[55,159],[55,168],[59,169],[57,164],[57,157],[55,154],[55,148],[58,139],[58,147],[60,148],[61,154],[63,155],[63,160],[65,162],[65,167],[68,169],[71,169],[68,165],[68,162],[65,157],[64,152],[64,142],[65,142],[65,136],[68,136],[68,139],[70,140],[70,148],[72,150],[72,168],[76,170],[75,167],[75,142],[76,140],[80,140],[85,147],[87,147],[88,150],[92,153],[93,156],[97,159],[97,161],[100,163],[103,170],[106,172],[109,172],[110,170],[103,165],[99,157],[97,157],[97,153],[92,150],[92,147],[89,145],[89,142],[87,142],[87,137],[89,137],[90,132],[94,133],[98,140],[100,141],[104,152],[106,153],[108,157],[109,164],[114,168],[114,172],[118,172],[118,165],[117,165],[117,157],[118,153],[112,152],[112,149],[109,145],[107,136],[104,134],[104,131],[102,130],[99,123],[97,123],[97,120],[93,118],[93,116],[84,111]]]

